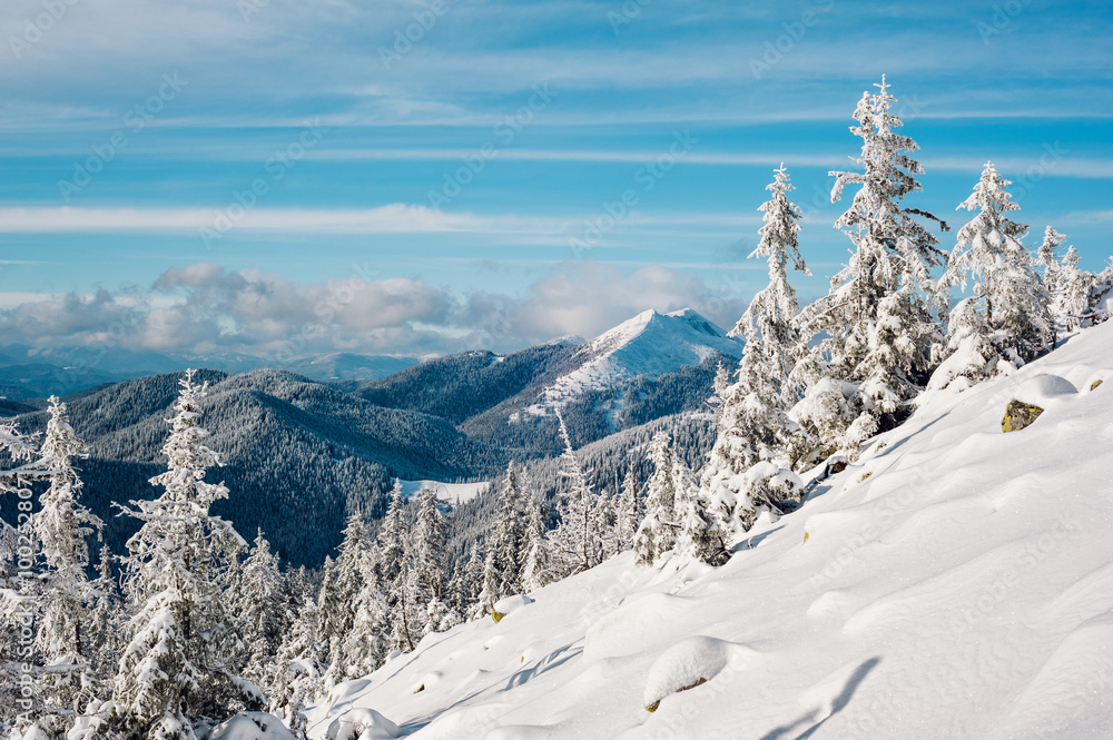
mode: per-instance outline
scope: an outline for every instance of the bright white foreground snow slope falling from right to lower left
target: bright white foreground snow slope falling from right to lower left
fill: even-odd
[[[1004,434],[1014,397],[1046,411]],[[1111,522],[1113,322],[925,398],[723,568],[614,558],[337,687],[311,737],[1107,740]]]

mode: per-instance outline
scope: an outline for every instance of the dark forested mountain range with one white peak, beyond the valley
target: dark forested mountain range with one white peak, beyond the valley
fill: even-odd
[[[716,364],[740,354],[739,342],[684,310],[646,312],[591,342],[565,338],[508,355],[467,352],[410,364],[414,358],[333,354],[295,365],[316,378],[290,369],[208,368],[200,375],[210,385],[204,424],[209,445],[225,458],[209,477],[232,491],[214,511],[248,539],[262,529],[287,562],[316,566],[337,544],[349,512],[372,520],[384,514],[394,477],[492,481],[512,460],[559,455],[554,407],[578,447],[698,413],[711,395]],[[385,372],[391,363],[408,366],[384,378],[337,378]],[[162,470],[165,420],[179,377],[160,373],[63,396],[89,444],[90,456],[80,462],[85,500],[108,523],[115,552],[132,523],[111,504],[154,495],[147,480]],[[45,399],[27,395],[0,402],[29,432],[45,428]],[[549,477],[543,487],[552,493]],[[461,506],[480,512],[482,499]],[[475,516],[461,522],[474,529]]]

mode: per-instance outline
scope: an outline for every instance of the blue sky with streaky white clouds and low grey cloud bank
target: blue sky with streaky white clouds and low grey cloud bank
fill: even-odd
[[[730,327],[788,168],[881,76],[953,226],[992,159],[1038,243],[1113,254],[1113,8],[849,0],[6,0],[0,346],[508,352],[647,308]],[[939,234],[954,246],[954,228]]]

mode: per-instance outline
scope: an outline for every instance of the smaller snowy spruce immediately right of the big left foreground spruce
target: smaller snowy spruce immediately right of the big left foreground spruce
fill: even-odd
[[[278,559],[260,529],[225,599],[239,622],[245,653],[243,674],[268,694],[276,685],[275,657],[290,628],[288,590],[289,583],[278,570]]]

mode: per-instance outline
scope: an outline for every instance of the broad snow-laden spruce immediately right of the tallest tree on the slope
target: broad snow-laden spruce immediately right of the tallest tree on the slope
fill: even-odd
[[[953,315],[949,356],[933,377],[933,387],[958,376],[977,383],[1054,347],[1050,296],[1021,243],[1028,227],[1005,215],[1020,209],[1005,189],[1008,184],[986,162],[973,195],[958,206],[978,213],[958,230],[939,289],[946,297],[953,287],[965,289],[973,279],[973,295]]]

